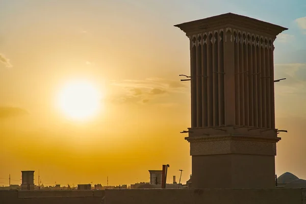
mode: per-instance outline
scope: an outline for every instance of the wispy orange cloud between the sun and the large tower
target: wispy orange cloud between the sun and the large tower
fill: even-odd
[[[122,88],[122,94],[114,96],[113,100],[119,103],[146,104],[165,94],[187,93],[186,84],[161,78],[113,81],[112,85]]]

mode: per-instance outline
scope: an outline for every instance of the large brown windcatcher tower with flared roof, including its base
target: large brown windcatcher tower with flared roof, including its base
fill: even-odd
[[[287,29],[232,13],[175,26],[190,39],[192,187],[275,187],[273,42]]]

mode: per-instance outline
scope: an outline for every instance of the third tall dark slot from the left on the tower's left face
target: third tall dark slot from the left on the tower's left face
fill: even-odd
[[[208,92],[207,92],[207,34],[203,34],[202,41],[202,122],[203,127],[208,126]]]

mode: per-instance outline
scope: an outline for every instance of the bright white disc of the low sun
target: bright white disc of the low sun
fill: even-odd
[[[58,104],[63,113],[73,120],[85,120],[98,113],[101,94],[86,81],[67,83],[61,90]]]

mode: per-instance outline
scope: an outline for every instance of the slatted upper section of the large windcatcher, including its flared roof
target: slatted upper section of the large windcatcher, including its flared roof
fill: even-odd
[[[175,27],[190,39],[191,127],[274,129],[273,42],[287,29],[233,13]]]

